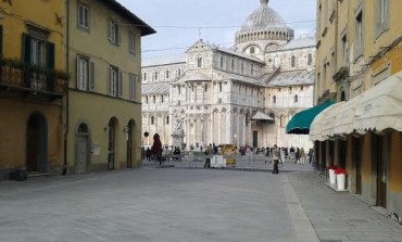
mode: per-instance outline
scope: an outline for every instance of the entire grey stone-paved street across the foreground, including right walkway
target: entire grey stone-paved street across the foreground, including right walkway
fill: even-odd
[[[0,182],[0,242],[402,241],[400,225],[310,165],[156,167]]]

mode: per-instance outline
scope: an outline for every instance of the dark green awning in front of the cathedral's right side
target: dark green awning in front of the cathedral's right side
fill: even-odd
[[[297,113],[286,126],[286,133],[309,135],[310,126],[315,116],[334,103],[334,101],[327,101],[323,104]]]

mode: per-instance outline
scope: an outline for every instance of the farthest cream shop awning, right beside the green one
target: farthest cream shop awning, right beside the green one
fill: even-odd
[[[330,105],[323,112],[317,114],[317,116],[315,116],[313,123],[310,126],[311,141],[324,141],[328,139],[328,135],[332,133],[334,130],[334,123],[337,116],[337,111],[343,104],[344,102]]]

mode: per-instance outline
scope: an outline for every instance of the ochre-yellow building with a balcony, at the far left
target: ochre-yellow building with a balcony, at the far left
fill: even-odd
[[[0,179],[61,170],[63,17],[63,1],[0,2]]]

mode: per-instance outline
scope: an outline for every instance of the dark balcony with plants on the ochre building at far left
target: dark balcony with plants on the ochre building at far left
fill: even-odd
[[[27,65],[16,60],[0,60],[0,95],[38,98],[54,101],[67,91],[68,74]]]

